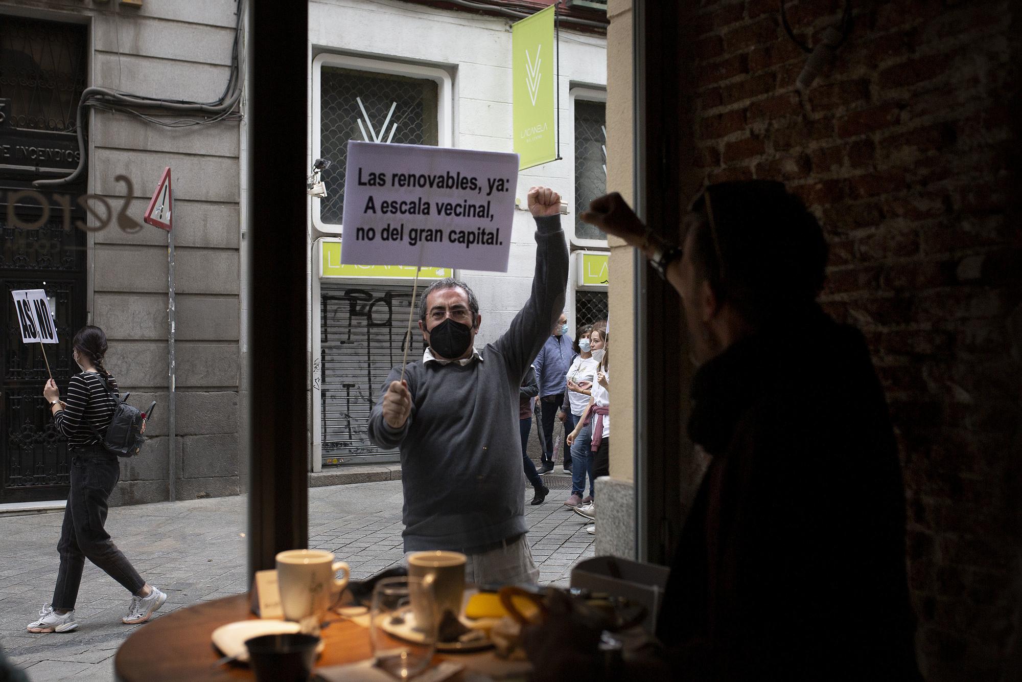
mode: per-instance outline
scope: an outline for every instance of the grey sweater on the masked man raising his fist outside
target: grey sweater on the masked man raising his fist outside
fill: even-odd
[[[525,532],[518,390],[564,308],[568,254],[560,217],[536,221],[532,292],[508,330],[467,365],[406,366],[412,411],[402,428],[383,419],[380,391],[369,438],[400,448],[405,551],[472,549]]]

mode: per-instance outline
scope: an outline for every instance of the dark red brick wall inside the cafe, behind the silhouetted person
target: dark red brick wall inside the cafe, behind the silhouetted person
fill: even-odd
[[[866,333],[901,446],[927,679],[1022,679],[1022,11],[852,4],[838,58],[799,92],[779,0],[702,2],[697,165],[785,180],[822,220],[825,306]],[[789,19],[814,45],[841,7],[789,2]]]

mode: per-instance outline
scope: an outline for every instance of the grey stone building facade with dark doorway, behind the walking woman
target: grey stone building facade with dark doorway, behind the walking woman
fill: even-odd
[[[167,100],[216,101],[225,92],[233,69],[236,8],[232,0],[4,0],[0,2],[4,59],[0,98],[16,100],[10,109],[20,112],[18,128],[35,128],[43,135],[59,133],[61,144],[74,149],[78,145],[68,131],[74,131],[83,88],[97,86]],[[33,102],[58,97],[67,89],[63,82],[53,87],[54,74],[72,69],[72,62],[77,71],[65,81],[74,82],[74,94],[55,107],[62,109],[66,125],[54,126],[54,107],[40,111],[33,108]],[[39,78],[25,86],[31,74]],[[21,87],[16,84],[18,78]],[[40,116],[49,116],[50,125],[34,122]],[[140,221],[164,168],[171,167],[177,318],[174,487],[178,499],[236,495],[241,490],[239,389],[244,364],[239,343],[244,295],[240,285],[241,124],[225,120],[168,128],[124,110],[86,107],[83,129],[87,136],[84,175],[71,185],[40,188],[51,203],[55,195],[68,195],[82,228],[62,229],[56,203],[49,221],[35,234],[5,224],[7,258],[0,265],[0,276],[7,288],[45,286],[48,292],[52,290],[63,343],[48,355],[61,388],[77,371],[69,358],[69,336],[86,322],[106,331],[107,368],[123,390],[132,393],[131,402],[140,407],[157,402],[145,452],[122,461],[122,484],[111,503],[169,499],[168,234]],[[0,144],[4,138],[16,143],[22,133],[4,129]],[[69,167],[62,175],[74,165]],[[4,178],[0,201],[6,202],[12,190],[31,187],[36,179],[61,177],[61,173],[4,166],[0,176]],[[89,210],[77,202],[85,194],[96,197],[84,200]],[[16,216],[39,217],[37,201],[21,198],[18,203]],[[7,221],[6,216],[3,220]],[[128,230],[122,229],[121,220],[128,221],[124,224]],[[32,244],[39,239],[48,240],[47,248],[58,255],[55,261],[33,255]],[[26,251],[32,254],[19,260]],[[60,262],[72,267],[60,268]],[[57,280],[63,283],[58,285]],[[6,290],[3,295],[9,302]],[[46,430],[49,415],[41,397],[46,370],[38,353],[19,349],[7,335],[0,439],[6,478],[0,482],[0,502],[59,500],[66,494],[66,452]],[[15,389],[27,393],[15,395]],[[8,438],[12,431],[24,434],[16,446]],[[13,481],[20,485],[10,485],[11,467],[20,472]],[[33,475],[28,476],[30,468]]]

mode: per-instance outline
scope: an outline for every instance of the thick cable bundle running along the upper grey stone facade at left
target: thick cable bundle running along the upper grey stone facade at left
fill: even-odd
[[[166,99],[135,95],[109,88],[86,88],[79,100],[76,116],[76,134],[78,136],[79,151],[81,152],[78,168],[66,177],[52,180],[36,180],[32,184],[36,187],[57,187],[75,182],[85,172],[87,150],[82,119],[87,106],[104,111],[129,113],[147,123],[164,126],[165,128],[186,128],[189,126],[219,123],[221,121],[240,120],[241,113],[235,111],[234,107],[241,99],[241,83],[243,82],[241,59],[239,58],[241,22],[244,17],[242,5],[242,0],[237,0],[237,19],[234,26],[234,42],[231,46],[231,73],[227,79],[227,85],[224,87],[224,92],[220,95],[219,99],[210,102],[196,102],[186,99]],[[139,108],[149,110],[141,111]],[[208,113],[212,116],[167,120],[167,117],[178,113]]]

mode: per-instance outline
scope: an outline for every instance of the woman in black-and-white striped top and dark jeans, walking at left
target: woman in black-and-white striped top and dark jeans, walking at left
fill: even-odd
[[[43,389],[53,423],[67,438],[71,492],[57,543],[60,567],[53,600],[39,611],[38,620],[29,624],[29,632],[71,632],[78,628],[75,602],[87,558],[131,592],[128,615],[121,619],[126,625],[149,620],[167,599],[164,592],[142,580],[103,528],[106,500],[121,479],[117,455],[102,445],[115,405],[110,394],[118,393],[117,380],[103,367],[106,334],[99,327],[86,325],[75,334],[72,347],[75,363],[82,371],[71,377],[66,402],[60,400],[53,379]]]

